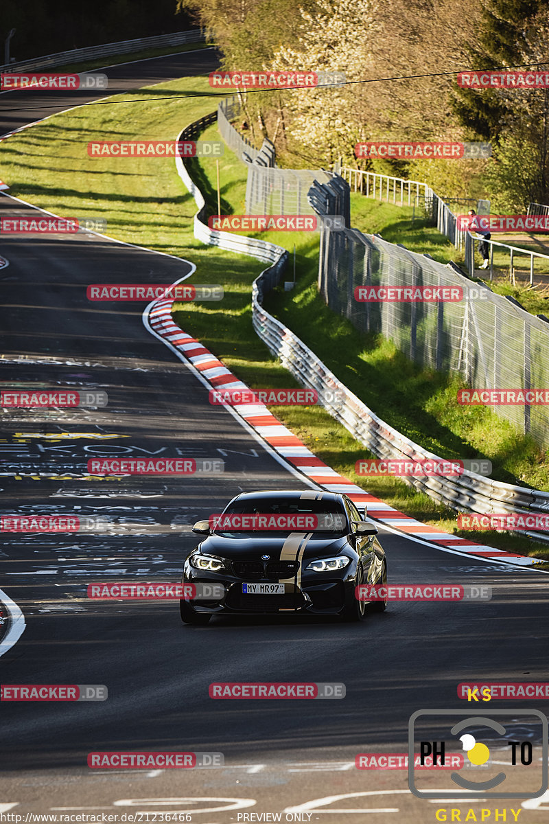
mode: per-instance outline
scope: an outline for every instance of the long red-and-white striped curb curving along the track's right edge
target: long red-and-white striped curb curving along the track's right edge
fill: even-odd
[[[216,358],[200,341],[181,330],[171,315],[173,299],[153,302],[147,307],[147,320],[151,330],[166,343],[170,344],[193,365],[202,378],[212,387],[218,389],[248,389],[245,383],[239,381],[225,364]],[[289,463],[294,471],[297,470],[315,484],[328,492],[341,492],[349,496],[355,503],[367,507],[368,517],[384,524],[391,531],[401,532],[412,541],[428,542],[440,550],[463,553],[475,558],[482,558],[491,563],[505,562],[519,566],[533,566],[541,561],[528,558],[525,555],[515,555],[505,550],[496,550],[493,546],[479,544],[477,541],[466,541],[464,538],[440,531],[437,527],[430,527],[415,518],[393,509],[353,484],[351,480],[339,475],[327,464],[323,463],[300,438],[286,428],[263,404],[237,404],[231,406],[241,419],[254,429],[264,442],[274,452],[277,452],[284,461]]]

